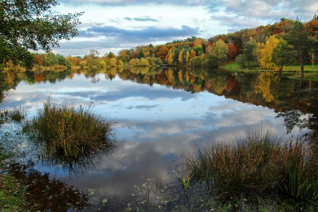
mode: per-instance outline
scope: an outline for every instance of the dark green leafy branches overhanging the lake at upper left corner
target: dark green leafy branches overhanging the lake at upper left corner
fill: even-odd
[[[83,13],[54,15],[51,8],[57,5],[57,0],[0,1],[0,63],[11,60],[30,70],[34,54],[28,49],[49,52],[79,34]]]

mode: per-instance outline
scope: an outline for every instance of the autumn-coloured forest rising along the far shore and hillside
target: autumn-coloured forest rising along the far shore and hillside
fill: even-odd
[[[84,57],[64,57],[52,52],[35,54],[34,66],[193,66],[217,67],[236,60],[241,67],[256,62],[260,69],[272,69],[297,62],[303,73],[304,64],[314,65],[318,58],[318,17],[302,22],[281,18],[279,22],[242,29],[209,38],[192,36],[184,40],[156,45],[136,46],[100,56],[92,49]],[[7,64],[10,66],[10,64]]]

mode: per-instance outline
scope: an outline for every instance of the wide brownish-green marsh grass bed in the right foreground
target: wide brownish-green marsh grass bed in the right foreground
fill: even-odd
[[[209,142],[183,153],[183,177],[216,195],[282,194],[317,204],[317,142],[284,140],[266,132]]]

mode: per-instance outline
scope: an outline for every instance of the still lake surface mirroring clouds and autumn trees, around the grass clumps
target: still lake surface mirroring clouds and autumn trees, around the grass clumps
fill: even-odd
[[[271,72],[109,68],[21,74],[17,81],[6,106],[22,105],[29,116],[50,96],[75,105],[92,100],[98,112],[120,123],[116,154],[71,170],[61,161],[35,163],[51,179],[90,194],[95,207],[87,211],[142,211],[147,184],[152,205],[169,211],[175,206],[164,204],[163,191],[178,193],[174,168],[182,150],[268,126],[281,136],[317,129],[318,84]]]

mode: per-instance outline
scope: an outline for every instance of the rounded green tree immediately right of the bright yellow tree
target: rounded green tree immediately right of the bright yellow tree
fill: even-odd
[[[293,62],[294,57],[293,47],[288,45],[286,40],[280,39],[272,54],[272,61],[280,65],[280,72],[283,70],[283,65]]]

